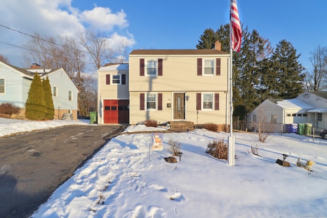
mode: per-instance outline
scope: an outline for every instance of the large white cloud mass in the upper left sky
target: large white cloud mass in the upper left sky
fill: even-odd
[[[128,27],[123,10],[112,12],[109,8],[94,6],[91,10],[81,11],[72,7],[72,0],[0,0],[0,5],[0,25],[29,35],[39,33],[46,37],[72,37],[86,28],[112,34],[117,27],[118,30],[115,31],[118,32],[112,34],[115,43],[125,43],[128,46],[135,43],[133,36],[126,34],[126,31],[122,33],[125,36],[120,35],[120,31]],[[30,36],[4,27],[0,27],[0,31],[0,42],[24,46],[31,39]],[[11,64],[25,67],[21,66],[21,49],[0,43],[0,51]]]

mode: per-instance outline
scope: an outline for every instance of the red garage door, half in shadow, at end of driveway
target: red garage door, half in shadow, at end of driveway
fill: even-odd
[[[129,100],[104,100],[105,124],[129,124]]]

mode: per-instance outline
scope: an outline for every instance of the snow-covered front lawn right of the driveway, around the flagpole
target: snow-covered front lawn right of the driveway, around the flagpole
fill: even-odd
[[[147,130],[137,125],[126,132],[140,129]],[[291,133],[261,143],[251,133],[233,135],[235,166],[205,153],[209,141],[227,140],[229,133],[165,133],[164,150],[150,152],[149,133],[119,135],[32,217],[327,216],[327,140]],[[177,163],[164,160],[169,139],[181,143]],[[248,152],[251,146],[260,156]],[[290,167],[275,163],[282,154]],[[296,166],[299,157],[316,163],[312,172]]]

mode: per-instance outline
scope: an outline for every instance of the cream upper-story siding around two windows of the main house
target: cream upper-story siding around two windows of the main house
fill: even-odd
[[[139,59],[162,58],[163,76],[139,76]],[[221,58],[220,76],[197,76],[198,56],[130,56],[130,91],[227,91],[228,57],[203,56],[205,59]]]

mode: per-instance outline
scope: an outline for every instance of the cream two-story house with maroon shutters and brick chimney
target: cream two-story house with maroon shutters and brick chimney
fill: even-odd
[[[104,105],[113,98],[129,100],[131,125],[146,119],[229,124],[228,61],[229,54],[220,51],[219,42],[214,50],[134,50],[128,70],[98,70],[99,123],[107,123],[104,117],[112,107]],[[119,96],[123,81],[128,84],[127,99],[126,93]],[[112,88],[118,92],[110,93]],[[127,91],[126,87],[121,90]]]

